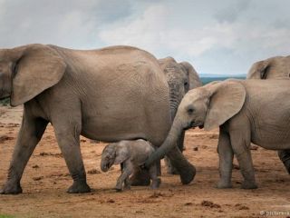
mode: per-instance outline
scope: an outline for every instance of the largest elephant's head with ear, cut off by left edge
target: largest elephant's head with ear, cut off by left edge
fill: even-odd
[[[63,58],[48,45],[0,49],[0,99],[10,96],[11,105],[24,104],[57,84],[65,69]]]

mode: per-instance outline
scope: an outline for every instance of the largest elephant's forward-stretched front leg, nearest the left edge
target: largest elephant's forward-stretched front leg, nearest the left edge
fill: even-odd
[[[24,109],[22,125],[14,147],[14,154],[9,166],[7,181],[0,193],[22,193],[20,181],[24,168],[34,152],[36,144],[43,136],[47,121],[31,115]]]

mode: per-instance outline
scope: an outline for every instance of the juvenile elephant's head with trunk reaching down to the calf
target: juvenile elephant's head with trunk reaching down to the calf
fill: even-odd
[[[245,87],[234,81],[213,82],[190,90],[179,104],[169,135],[160,148],[150,155],[145,166],[169,153],[184,129],[199,126],[211,130],[227,122],[241,110],[245,99]]]

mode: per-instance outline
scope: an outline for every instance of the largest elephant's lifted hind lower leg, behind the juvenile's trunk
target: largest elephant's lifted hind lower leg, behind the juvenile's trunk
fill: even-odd
[[[172,165],[178,170],[181,183],[190,183],[195,175],[196,168],[189,163],[185,156],[179,151],[179,148],[175,146],[167,154]]]

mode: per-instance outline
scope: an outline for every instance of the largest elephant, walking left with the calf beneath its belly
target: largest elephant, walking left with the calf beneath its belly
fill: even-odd
[[[1,193],[22,193],[24,167],[48,123],[73,177],[68,193],[87,193],[80,134],[116,142],[143,138],[160,146],[171,124],[169,87],[151,54],[130,46],[80,51],[54,45],[0,50],[1,97],[24,104],[23,123]],[[169,154],[182,183],[194,167]],[[191,173],[190,173],[191,172]]]

